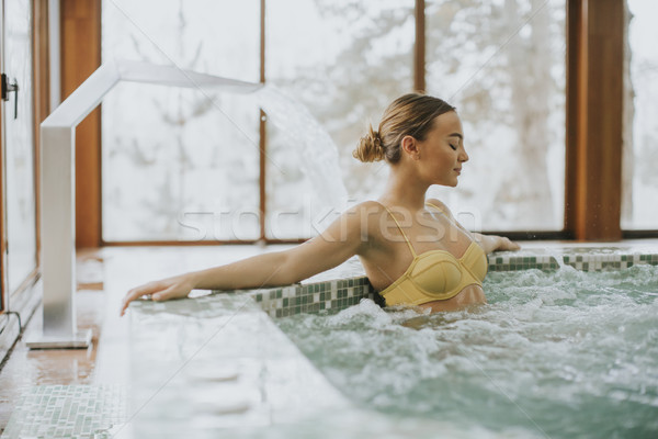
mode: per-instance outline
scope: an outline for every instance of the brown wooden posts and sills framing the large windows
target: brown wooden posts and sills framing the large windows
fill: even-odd
[[[260,81],[265,82],[265,2],[260,0]],[[567,89],[564,228],[557,232],[504,232],[514,239],[619,240],[658,236],[658,230],[622,230],[621,157],[623,92],[624,0],[567,0]],[[416,44],[413,89],[426,88],[426,0],[415,0]],[[84,11],[87,11],[84,13]],[[101,63],[101,1],[61,1],[63,98]],[[84,41],[89,44],[76,45]],[[259,210],[260,236],[252,240],[104,241],[101,215],[100,109],[76,138],[77,247],[296,244],[306,239],[271,239],[265,235],[266,121],[261,112]],[[91,119],[91,121],[89,121]],[[84,148],[78,145],[84,144]]]

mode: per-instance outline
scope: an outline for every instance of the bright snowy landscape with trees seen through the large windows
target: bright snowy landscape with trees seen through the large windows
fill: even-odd
[[[656,9],[649,3],[629,0],[629,8]],[[258,82],[259,4],[105,1],[103,59],[174,64]],[[361,164],[351,153],[366,124],[376,125],[393,99],[412,91],[413,7],[413,0],[266,3],[265,81],[327,130],[350,203],[376,198],[387,178],[384,162]],[[642,158],[634,160],[625,228],[658,228],[649,12],[637,13],[629,31],[633,81],[626,88],[636,93],[633,147]],[[427,91],[457,108],[470,155],[457,189],[433,187],[429,195],[470,229],[560,230],[565,0],[428,0],[426,16]],[[103,101],[103,238],[258,239],[259,123],[256,97],[117,87]],[[296,151],[285,130],[268,121],[269,238],[314,236],[338,213],[313,184],[322,169],[306,169]]]

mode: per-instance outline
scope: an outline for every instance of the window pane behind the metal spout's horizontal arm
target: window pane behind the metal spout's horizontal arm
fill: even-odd
[[[175,64],[258,82],[259,11],[258,0],[105,1],[103,61]],[[122,83],[102,114],[105,241],[260,236],[253,99]]]

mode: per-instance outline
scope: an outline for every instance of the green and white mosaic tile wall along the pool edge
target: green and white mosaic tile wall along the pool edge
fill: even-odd
[[[593,251],[592,251],[593,250]],[[489,271],[557,270],[569,266],[582,271],[623,270],[637,264],[658,266],[658,254],[620,252],[619,249],[569,249],[557,255],[489,255]],[[246,292],[271,317],[300,313],[340,311],[371,299],[383,304],[363,274],[348,279],[294,284],[283,288]]]

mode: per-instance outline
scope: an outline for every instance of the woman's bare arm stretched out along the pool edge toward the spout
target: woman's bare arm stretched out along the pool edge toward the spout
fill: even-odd
[[[367,236],[362,234],[362,216],[370,202],[344,212],[321,235],[284,251],[254,256],[226,266],[194,271],[146,283],[124,296],[121,315],[143,295],[154,301],[186,297],[192,290],[242,290],[287,285],[329,270],[362,252]],[[372,206],[371,206],[372,209]]]

